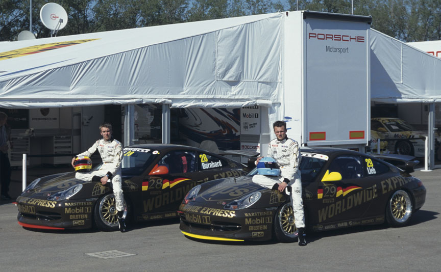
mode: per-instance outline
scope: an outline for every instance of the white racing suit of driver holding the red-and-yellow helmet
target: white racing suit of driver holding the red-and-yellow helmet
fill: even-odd
[[[103,160],[103,165],[99,170],[89,173],[77,172],[75,177],[85,181],[91,181],[93,176],[104,177],[108,172],[111,173],[109,179],[112,181],[113,194],[115,195],[116,210],[124,211],[124,196],[121,186],[121,160],[122,145],[116,140],[105,142],[103,139],[96,141],[87,151],[77,156],[90,157],[98,149]]]

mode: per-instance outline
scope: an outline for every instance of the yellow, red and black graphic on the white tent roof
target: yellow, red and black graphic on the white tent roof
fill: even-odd
[[[46,44],[24,47],[12,51],[0,52],[0,61],[12,59],[12,58],[18,58],[22,56],[28,56],[36,53],[41,53],[49,50],[54,50],[58,48],[63,48],[63,47],[95,41],[95,40],[100,40],[100,39],[86,39],[86,40],[46,43]]]

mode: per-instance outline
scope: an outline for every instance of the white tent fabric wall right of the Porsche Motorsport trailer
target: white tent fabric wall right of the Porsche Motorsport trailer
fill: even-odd
[[[372,101],[441,101],[440,59],[373,29],[370,40]]]

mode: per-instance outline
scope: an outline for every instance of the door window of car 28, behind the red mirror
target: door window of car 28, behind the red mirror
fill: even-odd
[[[168,173],[190,173],[196,171],[196,152],[192,151],[171,151],[168,152],[160,165],[168,168]]]

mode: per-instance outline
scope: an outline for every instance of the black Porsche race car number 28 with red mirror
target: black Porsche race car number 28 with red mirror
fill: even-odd
[[[125,216],[137,222],[176,217],[192,187],[246,174],[239,162],[180,145],[129,146],[124,148],[121,165]],[[78,180],[75,172],[34,180],[16,202],[18,224],[23,227],[118,229],[109,185]]]

